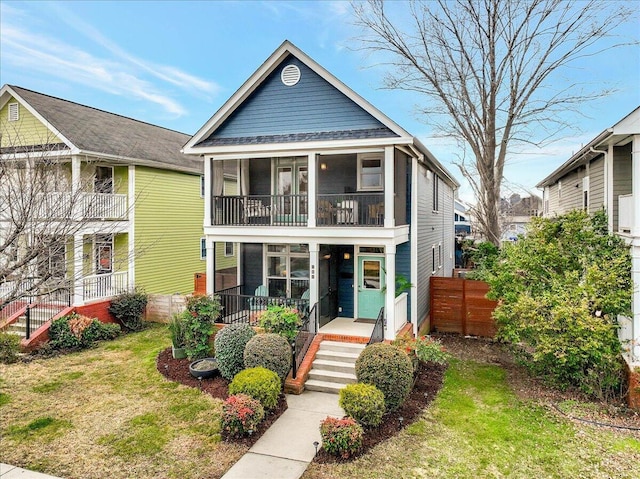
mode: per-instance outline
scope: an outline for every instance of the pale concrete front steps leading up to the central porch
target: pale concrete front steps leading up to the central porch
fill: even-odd
[[[322,341],[305,389],[338,394],[347,384],[355,383],[356,359],[364,348],[364,344]]]

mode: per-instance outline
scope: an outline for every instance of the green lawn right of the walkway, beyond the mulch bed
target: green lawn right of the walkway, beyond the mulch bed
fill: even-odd
[[[503,368],[454,360],[421,420],[319,478],[637,478],[638,436],[571,423],[518,399]]]

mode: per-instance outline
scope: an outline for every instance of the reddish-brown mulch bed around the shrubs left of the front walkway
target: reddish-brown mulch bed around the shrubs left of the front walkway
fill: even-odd
[[[171,348],[167,348],[158,354],[156,367],[158,368],[158,372],[160,372],[160,374],[166,377],[169,381],[175,381],[177,383],[184,384],[185,386],[200,389],[201,391],[210,394],[215,398],[222,399],[223,401],[229,397],[229,381],[224,379],[222,376],[202,380],[194,378],[189,372],[190,362],[191,361],[188,359],[174,359],[171,354]],[[258,439],[260,439],[260,436],[269,429],[271,424],[273,424],[286,410],[287,400],[284,394],[280,394],[276,407],[267,411],[264,420],[251,436],[233,439],[225,438],[225,440],[235,444],[251,447]]]

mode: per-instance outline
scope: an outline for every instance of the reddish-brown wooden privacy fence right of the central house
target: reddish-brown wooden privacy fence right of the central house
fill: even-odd
[[[431,331],[492,338],[497,302],[485,297],[489,285],[463,278],[431,278]]]

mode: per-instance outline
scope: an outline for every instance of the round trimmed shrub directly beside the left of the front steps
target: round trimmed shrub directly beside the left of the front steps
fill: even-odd
[[[257,334],[244,348],[244,367],[262,366],[278,375],[284,382],[291,369],[291,346],[275,333]]]

